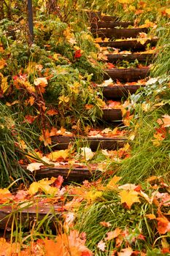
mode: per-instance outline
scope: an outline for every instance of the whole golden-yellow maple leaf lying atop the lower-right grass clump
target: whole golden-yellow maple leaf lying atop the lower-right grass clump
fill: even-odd
[[[119,195],[121,197],[121,203],[125,203],[128,208],[131,208],[133,203],[140,203],[138,197],[139,193],[134,190],[123,190],[119,193]]]

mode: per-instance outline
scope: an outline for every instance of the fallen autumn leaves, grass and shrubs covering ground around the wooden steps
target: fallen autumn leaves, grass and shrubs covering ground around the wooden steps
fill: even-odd
[[[169,1],[47,1],[46,6],[35,1],[34,44],[23,4],[3,4],[1,255],[170,255]],[[106,64],[110,48],[101,43],[109,39],[93,39],[82,7],[135,20],[138,28],[150,27],[150,34],[136,41],[141,47],[148,39],[159,39],[151,79],[103,80],[106,65],[143,66],[136,60]],[[149,42],[148,50],[153,50]],[[115,84],[143,86],[120,102],[106,102],[103,87]],[[120,110],[119,128],[101,124],[106,108]],[[98,146],[93,152],[76,139],[69,148],[55,150],[53,137],[61,135],[125,135],[128,141],[112,151]],[[55,174],[36,181],[38,170],[64,166],[64,179]],[[68,183],[73,167],[88,167],[92,179]],[[93,167],[99,170],[96,176]],[[32,211],[36,217],[30,221]]]

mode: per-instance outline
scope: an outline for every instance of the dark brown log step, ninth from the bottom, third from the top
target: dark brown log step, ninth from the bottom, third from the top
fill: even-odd
[[[139,33],[144,32],[147,33],[147,28],[133,28],[133,29],[91,29],[91,32],[94,37],[109,37],[109,38],[135,38],[139,35]]]

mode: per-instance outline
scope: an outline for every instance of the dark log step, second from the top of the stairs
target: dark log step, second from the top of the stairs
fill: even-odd
[[[127,28],[128,26],[134,26],[134,22],[123,22],[123,21],[98,21],[90,23],[91,29],[113,29],[117,26],[121,26],[123,28]]]

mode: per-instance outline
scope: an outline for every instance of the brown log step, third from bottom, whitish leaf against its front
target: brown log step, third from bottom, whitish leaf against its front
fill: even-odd
[[[112,137],[112,138],[95,138],[95,137],[81,137],[81,136],[53,136],[52,142],[56,144],[53,148],[61,150],[66,149],[69,143],[75,143],[78,141],[80,147],[89,146],[92,151],[96,151],[98,148],[115,150],[123,147],[126,139],[125,137]]]

